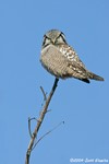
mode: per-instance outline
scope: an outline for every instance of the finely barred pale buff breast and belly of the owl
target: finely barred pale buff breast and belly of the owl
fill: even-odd
[[[68,59],[56,46],[50,45],[44,48],[40,61],[51,74],[62,79],[69,77]]]

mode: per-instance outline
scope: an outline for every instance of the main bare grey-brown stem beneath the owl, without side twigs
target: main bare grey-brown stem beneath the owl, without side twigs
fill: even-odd
[[[59,79],[56,78],[53,86],[52,86],[52,89],[51,89],[51,91],[49,93],[49,96],[47,97],[47,99],[45,102],[43,110],[41,110],[41,113],[39,115],[39,118],[37,120],[37,125],[35,127],[35,130],[34,130],[33,134],[32,134],[31,141],[28,143],[28,148],[27,148],[27,151],[26,151],[25,164],[29,164],[31,153],[32,153],[32,150],[33,150],[33,147],[34,147],[34,143],[35,143],[35,139],[37,139],[38,130],[39,130],[39,128],[40,128],[40,126],[43,124],[43,120],[44,120],[45,116],[46,116],[46,113],[47,113],[49,103],[51,101],[51,97],[52,97],[52,95],[53,95],[53,93],[55,93],[55,91],[56,91],[56,89],[58,86],[58,81],[59,81]]]

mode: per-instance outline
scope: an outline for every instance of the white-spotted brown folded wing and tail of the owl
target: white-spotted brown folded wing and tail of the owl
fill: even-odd
[[[87,83],[89,83],[88,79],[104,81],[104,78],[86,69],[85,65],[81,61],[77,54],[72,47],[70,47],[69,45],[63,45],[61,46],[60,50],[62,50],[63,55],[69,59],[68,67],[72,69],[72,77],[77,78]]]

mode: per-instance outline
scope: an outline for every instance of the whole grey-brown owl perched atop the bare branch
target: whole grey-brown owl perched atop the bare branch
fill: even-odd
[[[58,79],[75,78],[87,83],[89,79],[104,81],[104,78],[86,69],[75,50],[68,45],[64,34],[57,30],[44,35],[40,61]]]

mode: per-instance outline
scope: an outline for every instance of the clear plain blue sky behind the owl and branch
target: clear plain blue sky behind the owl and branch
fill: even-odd
[[[62,31],[87,69],[105,78],[90,84],[60,80],[31,164],[70,164],[70,159],[109,160],[109,0],[0,0],[0,163],[23,164],[28,117],[38,118],[41,85],[55,77],[40,65],[44,34]],[[32,129],[36,122],[33,121]]]

